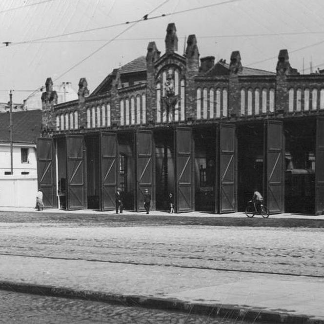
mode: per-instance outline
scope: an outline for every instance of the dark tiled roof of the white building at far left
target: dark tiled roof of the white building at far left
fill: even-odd
[[[41,110],[12,113],[13,142],[35,143],[41,132]],[[10,142],[10,114],[0,114],[0,142]]]

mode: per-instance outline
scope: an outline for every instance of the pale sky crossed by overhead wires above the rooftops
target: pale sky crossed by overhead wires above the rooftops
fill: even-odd
[[[323,0],[1,0],[0,102],[10,89],[22,102],[48,77],[76,90],[86,78],[91,92],[114,68],[145,56],[149,41],[163,54],[170,22],[179,54],[195,34],[201,58],[229,61],[239,50],[243,66],[275,71],[286,48],[292,67],[309,74],[310,62],[313,72],[324,68],[323,13]]]

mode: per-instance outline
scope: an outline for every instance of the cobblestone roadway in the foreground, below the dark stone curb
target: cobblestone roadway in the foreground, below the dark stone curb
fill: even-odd
[[[235,324],[245,322],[0,290],[2,324]]]

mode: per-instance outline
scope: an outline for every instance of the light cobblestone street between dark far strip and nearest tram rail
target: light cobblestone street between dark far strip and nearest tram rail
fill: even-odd
[[[0,253],[324,276],[324,229],[0,223]]]

